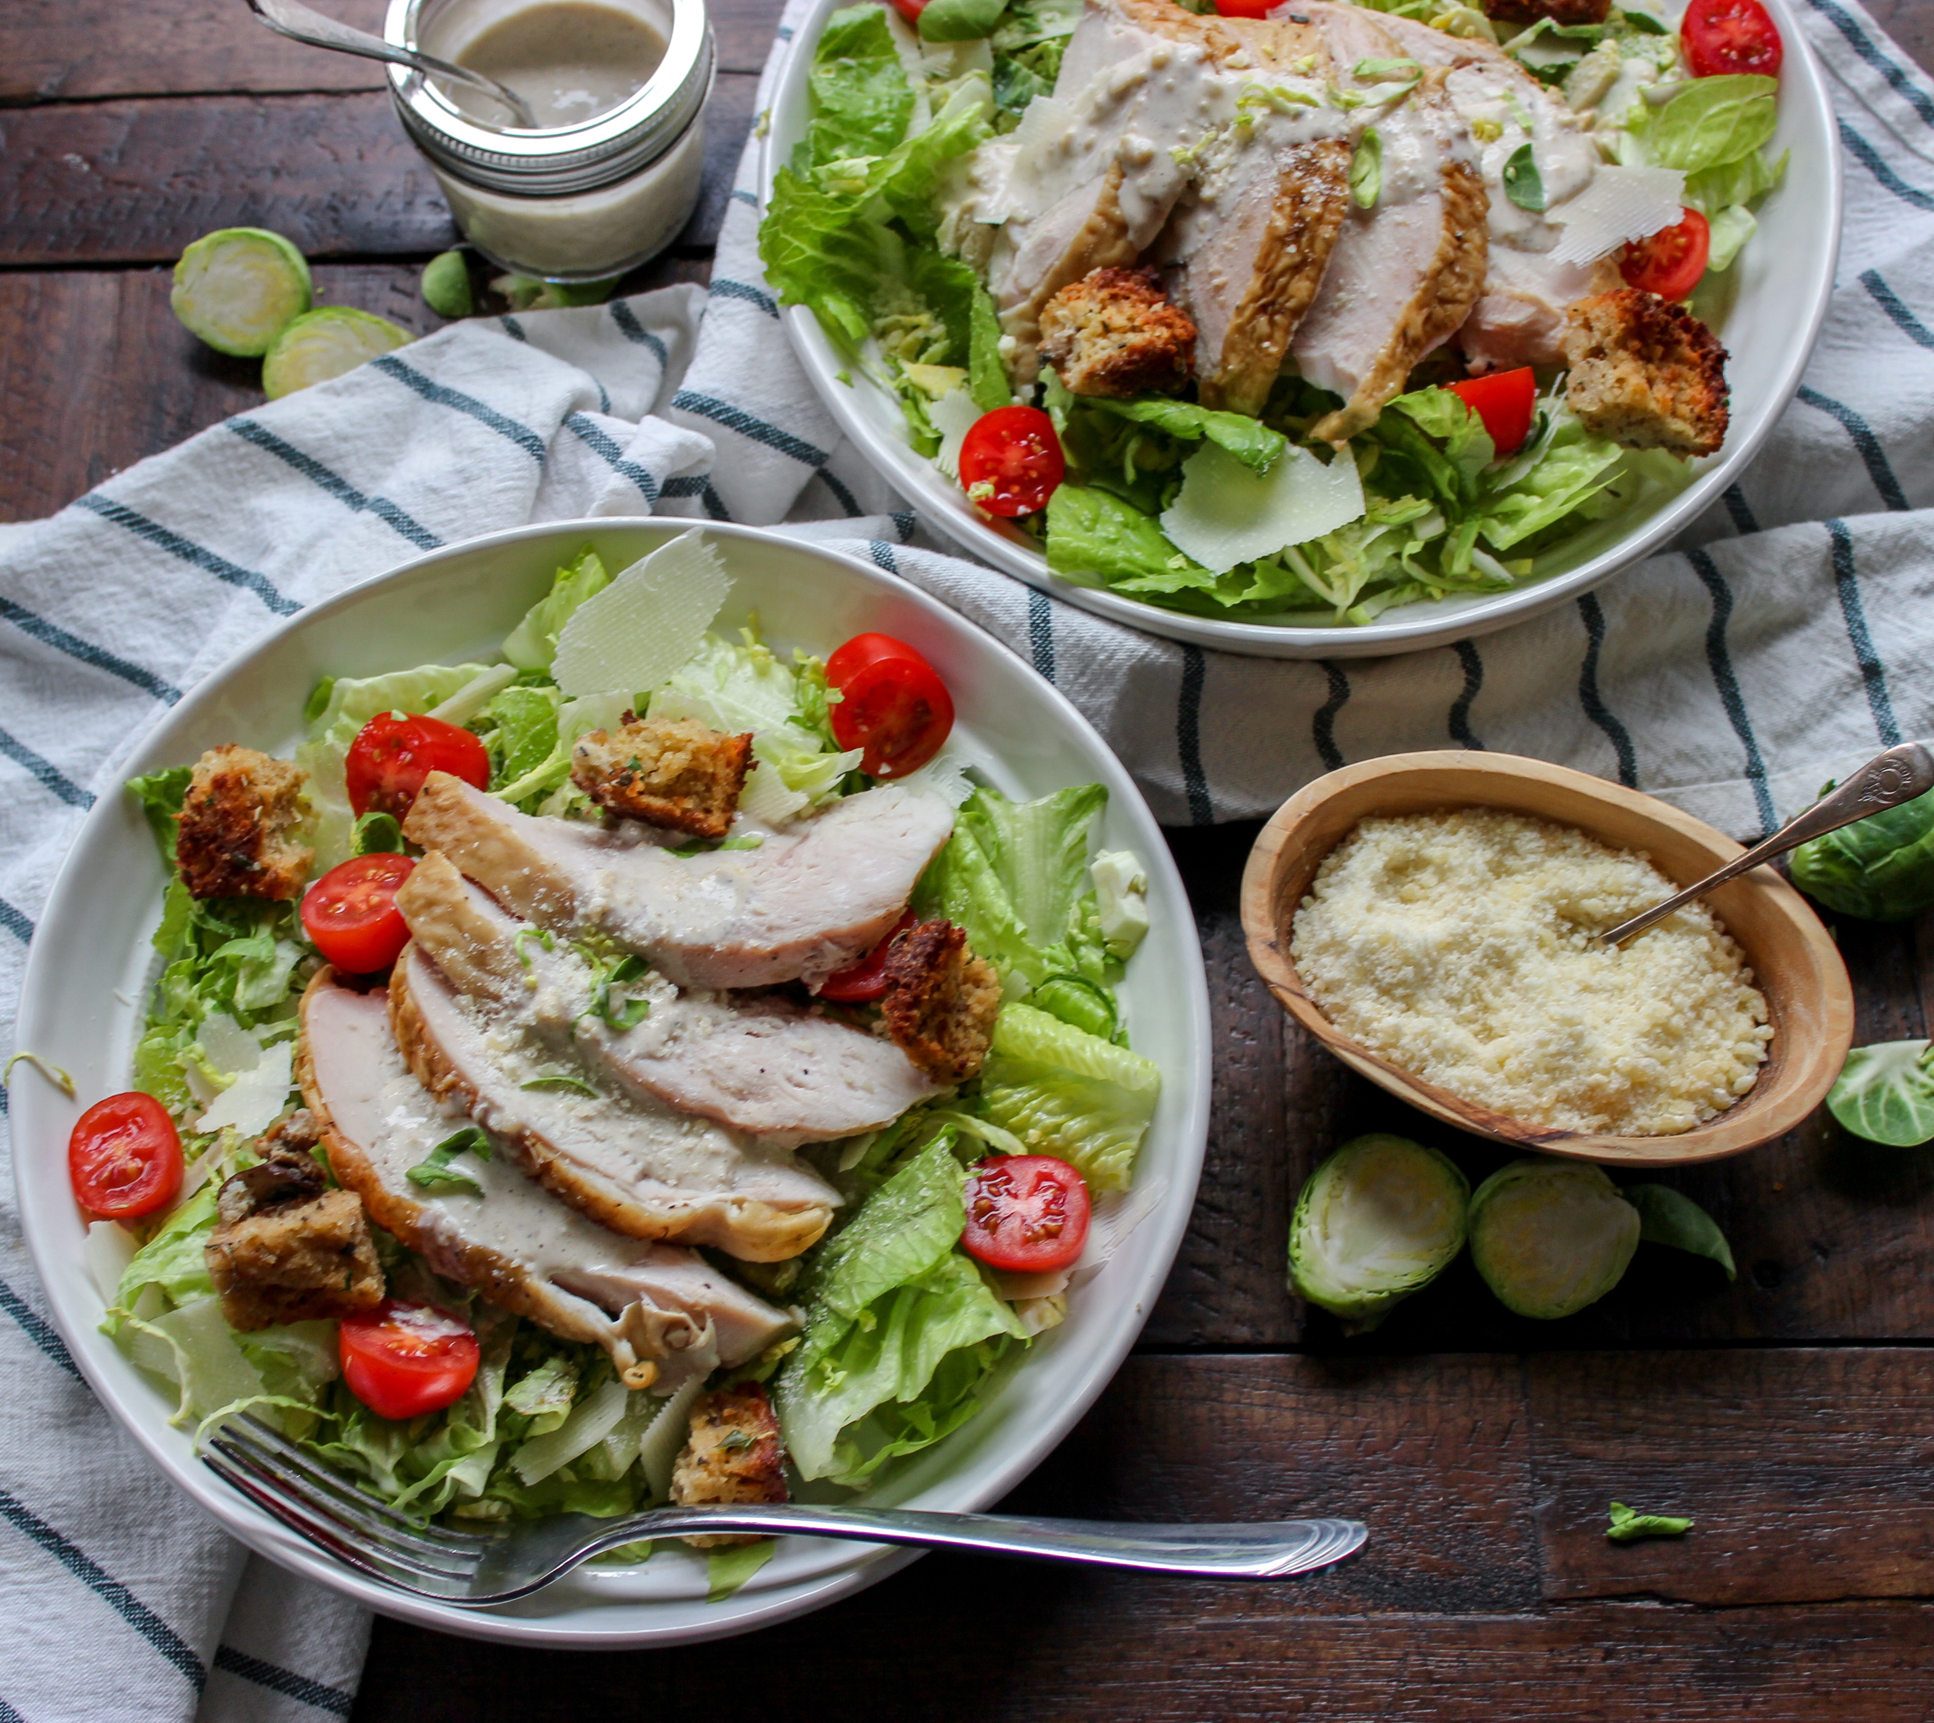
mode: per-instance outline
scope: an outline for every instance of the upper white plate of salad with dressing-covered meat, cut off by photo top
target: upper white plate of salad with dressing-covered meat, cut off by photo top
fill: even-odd
[[[828,0],[760,255],[841,427],[982,561],[1365,656],[1717,501],[1837,240],[1779,0]]]

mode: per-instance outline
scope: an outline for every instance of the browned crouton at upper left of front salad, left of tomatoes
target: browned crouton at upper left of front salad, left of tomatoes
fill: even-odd
[[[315,851],[290,833],[304,818],[308,779],[302,768],[253,748],[209,748],[174,816],[174,861],[190,895],[300,897]]]

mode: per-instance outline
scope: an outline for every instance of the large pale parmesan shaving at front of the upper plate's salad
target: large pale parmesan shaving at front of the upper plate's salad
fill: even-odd
[[[1286,545],[1307,543],[1363,512],[1363,482],[1348,454],[1325,466],[1307,449],[1284,449],[1255,474],[1215,443],[1182,462],[1182,491],[1162,532],[1184,555],[1226,574]]]

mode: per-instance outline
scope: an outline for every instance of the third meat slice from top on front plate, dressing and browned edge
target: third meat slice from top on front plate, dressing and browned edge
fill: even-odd
[[[748,1263],[808,1249],[839,1193],[787,1153],[605,1093],[516,1019],[493,1021],[414,944],[389,978],[404,1064],[431,1095],[501,1137],[545,1189],[630,1238],[716,1245]]]

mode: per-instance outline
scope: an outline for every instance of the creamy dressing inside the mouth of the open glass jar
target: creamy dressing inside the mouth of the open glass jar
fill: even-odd
[[[615,6],[549,0],[497,19],[454,58],[514,89],[540,126],[576,126],[644,89],[665,58],[665,39]],[[476,120],[501,120],[482,91],[453,83],[445,93]]]

